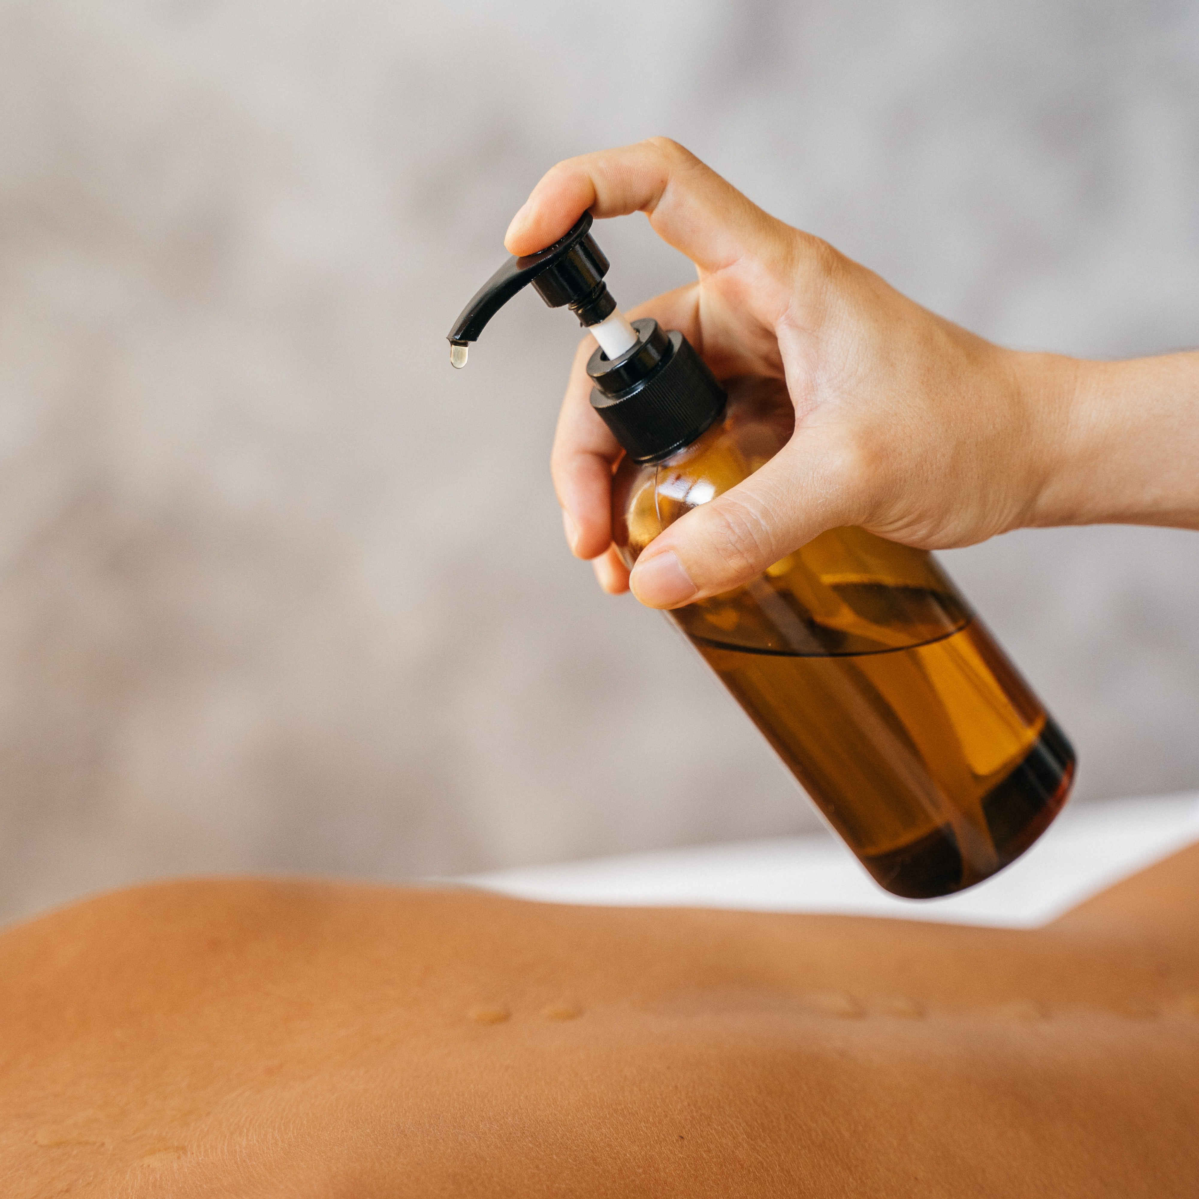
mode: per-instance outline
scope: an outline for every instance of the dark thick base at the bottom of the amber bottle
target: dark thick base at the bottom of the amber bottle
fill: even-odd
[[[982,801],[998,864],[983,878],[970,874],[951,825],[887,850],[863,855],[875,882],[904,899],[935,899],[965,891],[1014,862],[1053,823],[1074,778],[1074,751],[1052,718],[1024,760]]]

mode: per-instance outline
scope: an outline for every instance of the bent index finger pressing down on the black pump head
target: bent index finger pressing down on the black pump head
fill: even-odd
[[[552,167],[512,218],[505,245],[512,254],[536,253],[589,210],[596,217],[647,213],[701,272],[731,265],[785,228],[677,143],[651,138]]]

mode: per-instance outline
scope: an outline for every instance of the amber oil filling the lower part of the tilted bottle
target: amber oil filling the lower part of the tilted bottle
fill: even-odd
[[[892,601],[928,609],[945,598],[837,590],[854,610]],[[676,620],[686,629],[695,615],[681,609]],[[1056,724],[963,615],[947,634],[873,651],[692,634],[875,880],[909,898],[959,891],[1018,857],[1056,815],[1073,770]]]

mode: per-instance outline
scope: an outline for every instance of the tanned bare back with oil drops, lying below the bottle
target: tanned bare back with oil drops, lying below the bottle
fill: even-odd
[[[1182,1199],[1199,846],[1034,932],[162,884],[0,1030],[6,1199]]]

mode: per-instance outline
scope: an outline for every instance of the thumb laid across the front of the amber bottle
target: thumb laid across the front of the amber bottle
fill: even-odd
[[[819,433],[796,430],[760,470],[692,508],[643,550],[629,586],[649,608],[731,591],[827,529],[861,523],[854,470]]]

